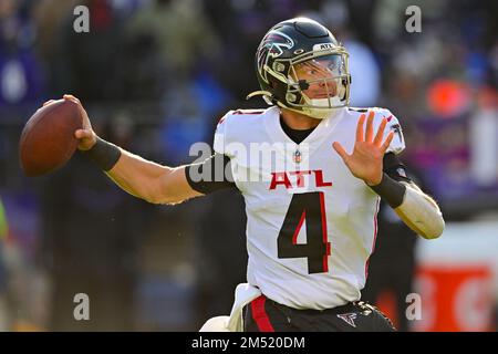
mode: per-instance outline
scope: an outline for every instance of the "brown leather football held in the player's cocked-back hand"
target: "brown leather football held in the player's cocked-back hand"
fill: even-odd
[[[22,129],[19,144],[21,167],[27,176],[41,176],[64,165],[73,156],[82,127],[77,104],[54,101],[38,110]]]

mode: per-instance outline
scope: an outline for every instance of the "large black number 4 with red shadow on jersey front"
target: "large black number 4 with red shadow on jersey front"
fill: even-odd
[[[330,242],[326,241],[324,195],[321,191],[295,194],[278,237],[279,258],[308,258],[308,272],[329,271]],[[298,244],[298,235],[305,221],[307,243]]]

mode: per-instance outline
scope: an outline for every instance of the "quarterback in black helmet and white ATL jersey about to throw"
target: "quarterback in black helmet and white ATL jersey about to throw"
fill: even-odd
[[[245,303],[243,331],[394,330],[360,299],[381,198],[421,237],[434,239],[444,230],[437,204],[406,177],[397,157],[405,148],[398,119],[385,108],[349,106],[347,55],[315,21],[276,24],[256,53],[261,90],[249,95],[261,95],[269,107],[228,112],[218,123],[212,156],[187,166],[162,166],[101,139],[77,98],[64,96],[84,116],[75,132],[79,149],[131,195],[178,204],[240,190],[247,282],[258,291]],[[231,148],[279,143],[292,147],[271,152],[283,164],[258,166]],[[222,160],[222,178],[203,174],[215,171],[215,160]]]

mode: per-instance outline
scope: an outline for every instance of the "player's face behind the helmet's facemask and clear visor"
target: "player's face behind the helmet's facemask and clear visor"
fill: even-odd
[[[342,71],[339,55],[311,59],[294,65],[295,79],[304,80],[309,87],[302,92],[309,98],[329,98],[338,93],[336,77]]]

